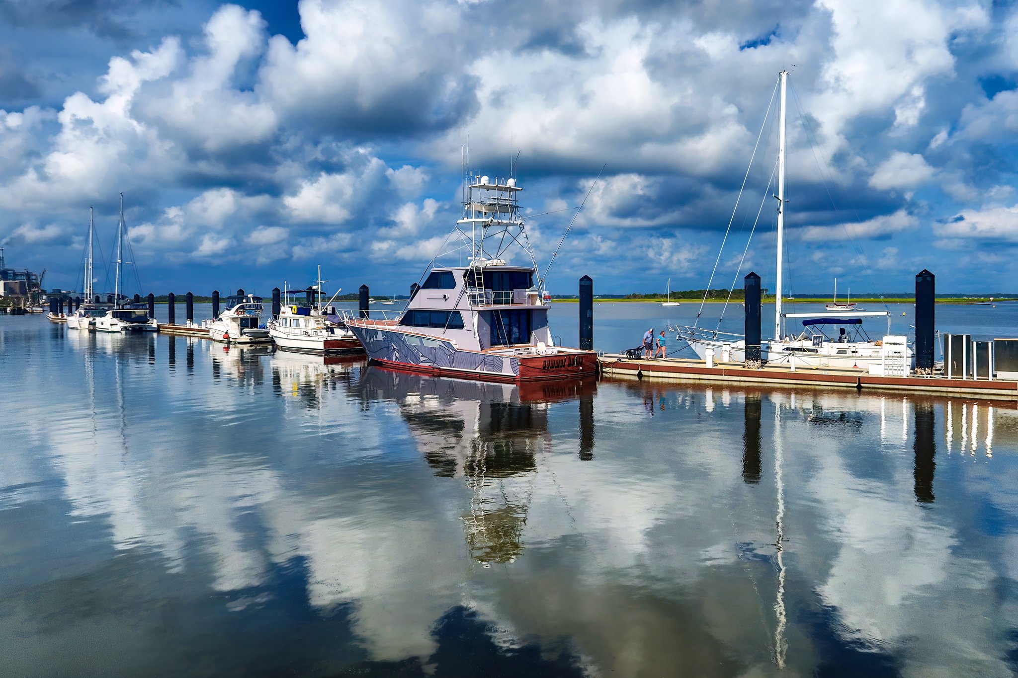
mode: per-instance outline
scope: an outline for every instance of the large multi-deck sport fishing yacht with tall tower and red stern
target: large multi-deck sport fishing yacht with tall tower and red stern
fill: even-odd
[[[463,218],[446,239],[453,244],[426,268],[423,284],[412,286],[406,309],[383,319],[347,314],[346,324],[369,358],[405,370],[490,381],[595,374],[593,351],[553,342],[544,279],[536,275],[519,210],[520,190],[513,178],[470,175]],[[510,249],[523,250],[529,262],[511,265],[505,259]],[[467,265],[436,265],[443,255],[464,252]]]

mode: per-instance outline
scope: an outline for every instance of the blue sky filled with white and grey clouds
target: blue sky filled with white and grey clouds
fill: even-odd
[[[543,272],[571,225],[552,293],[772,288],[787,69],[786,294],[1018,292],[1009,35],[976,0],[0,0],[0,243],[80,290],[123,192],[129,292],[405,293],[468,147]]]

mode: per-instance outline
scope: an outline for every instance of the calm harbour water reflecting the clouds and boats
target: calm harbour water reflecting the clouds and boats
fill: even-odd
[[[691,307],[599,304],[596,344]],[[480,384],[6,316],[0,374],[4,675],[1018,669],[1015,404]]]

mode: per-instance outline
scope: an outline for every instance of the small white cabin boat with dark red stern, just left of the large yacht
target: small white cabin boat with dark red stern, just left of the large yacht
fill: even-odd
[[[332,305],[342,288],[328,302],[322,302],[322,266],[318,285],[308,290],[306,306],[283,306],[279,317],[270,320],[269,335],[280,351],[307,353],[319,356],[363,353],[357,337],[347,328],[346,321]],[[312,294],[314,293],[314,297]]]

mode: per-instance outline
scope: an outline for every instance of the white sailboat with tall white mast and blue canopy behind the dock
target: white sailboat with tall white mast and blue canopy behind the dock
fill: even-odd
[[[785,117],[788,71],[778,76],[780,87],[780,122],[778,125],[778,265],[774,315],[774,338],[760,343],[760,361],[769,364],[795,364],[801,367],[862,368],[880,365],[888,351],[895,352],[898,360],[911,365],[913,352],[902,347],[904,340],[892,336],[891,314],[888,311],[862,311],[839,305],[830,310],[807,313],[785,313],[782,309],[782,275],[784,272],[783,253],[785,235]],[[765,124],[767,121],[765,119]],[[770,186],[768,187],[770,189]],[[768,191],[770,192],[770,190]],[[734,218],[734,212],[733,212]],[[720,260],[720,254],[719,254]],[[713,278],[713,275],[712,275]],[[710,289],[711,284],[708,284]],[[706,296],[704,295],[704,301]],[[727,304],[726,304],[727,305]],[[700,312],[703,304],[700,304]],[[697,318],[699,315],[697,315]],[[862,329],[864,318],[887,319],[888,334],[881,340],[871,340]],[[801,324],[800,324],[801,323]],[[719,320],[720,326],[720,320]],[[695,325],[669,325],[676,332],[676,338],[685,341],[701,359],[708,352],[722,362],[745,362],[746,344],[741,334],[706,329]],[[888,351],[885,351],[885,348]]]

